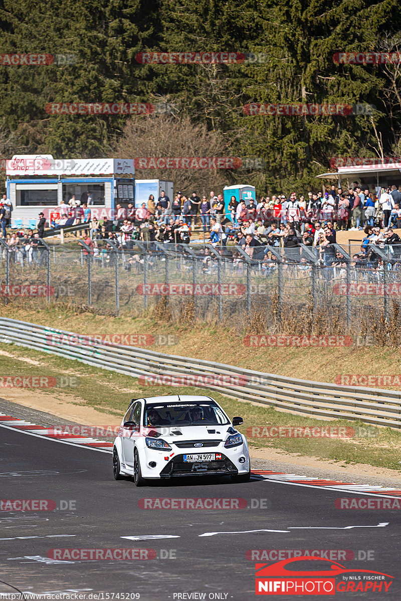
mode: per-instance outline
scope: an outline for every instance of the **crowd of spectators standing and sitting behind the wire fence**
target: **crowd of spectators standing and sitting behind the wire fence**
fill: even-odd
[[[151,194],[147,203],[134,207],[117,204],[113,215],[100,222],[92,216],[91,196],[81,203],[75,195],[60,206],[49,224],[55,230],[82,225],[75,231],[84,240],[85,255],[100,256],[112,248],[131,250],[136,241],[162,244],[191,242],[194,229],[199,228],[204,239],[213,246],[227,243],[239,246],[249,257],[262,260],[272,247],[294,248],[301,243],[311,246],[323,263],[335,260],[330,245],[337,242],[337,231],[363,230],[365,237],[355,260],[364,260],[372,253],[372,245],[401,244],[393,227],[401,228],[401,186],[382,190],[379,197],[369,188],[358,185],[343,191],[331,186],[324,194],[308,192],[297,197],[287,195],[237,200],[233,195],[227,207],[222,194],[198,196],[178,192],[174,199],[161,192],[155,200]],[[38,216],[37,233],[17,231],[7,233],[12,204],[4,194],[0,203],[0,237],[10,246],[16,263],[41,264],[46,219]],[[329,258],[328,258],[329,257]],[[334,258],[333,258],[334,257]]]

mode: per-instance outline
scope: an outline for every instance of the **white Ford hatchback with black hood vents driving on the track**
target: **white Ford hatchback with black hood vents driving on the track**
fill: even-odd
[[[251,475],[248,442],[213,398],[179,395],[132,399],[113,448],[115,480]]]

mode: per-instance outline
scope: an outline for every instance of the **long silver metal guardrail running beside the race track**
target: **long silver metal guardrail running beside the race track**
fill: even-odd
[[[166,355],[148,349],[109,344],[51,343],[52,334],[79,337],[65,330],[35,323],[2,318],[0,342],[14,343],[88,365],[117,371],[127,376],[213,376],[211,388],[241,400],[257,401],[277,409],[310,415],[314,418],[360,419],[376,426],[401,428],[401,392],[378,388],[340,386],[245,370],[225,365]],[[82,335],[81,335],[82,336]],[[58,337],[60,339],[60,337]],[[223,377],[229,376],[227,385]],[[237,376],[238,383],[232,379]],[[221,380],[219,381],[219,377]],[[206,386],[203,386],[206,387]]]

